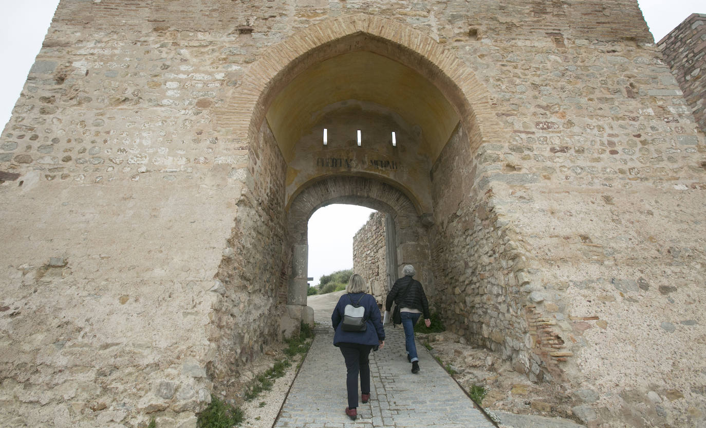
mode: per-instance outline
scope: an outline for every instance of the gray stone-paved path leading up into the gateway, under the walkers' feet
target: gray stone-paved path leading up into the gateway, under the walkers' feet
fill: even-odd
[[[345,363],[333,346],[333,329],[317,328],[292,390],[275,421],[282,428],[436,427],[493,428],[460,386],[417,343],[419,374],[407,362],[405,333],[385,326],[385,347],[371,352],[371,399],[358,419],[345,415]],[[359,391],[360,393],[360,391]]]

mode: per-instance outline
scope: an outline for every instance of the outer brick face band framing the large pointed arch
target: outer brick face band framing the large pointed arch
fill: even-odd
[[[356,33],[388,40],[428,61],[436,69],[437,78],[452,88],[440,89],[457,109],[473,150],[483,142],[499,140],[498,122],[491,110],[493,97],[466,64],[424,32],[396,20],[366,14],[323,20],[269,47],[251,64],[227,106],[215,112],[220,126],[232,129],[238,140],[254,141],[275,83],[295,64],[311,57],[308,54],[312,51]]]

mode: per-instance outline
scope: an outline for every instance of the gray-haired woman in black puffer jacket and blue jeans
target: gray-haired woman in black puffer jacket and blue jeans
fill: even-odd
[[[388,298],[385,299],[385,311],[390,311],[395,302],[396,309],[400,311],[400,320],[395,324],[402,323],[405,328],[405,348],[407,349],[407,361],[412,363],[412,373],[419,373],[419,357],[417,356],[417,345],[414,343],[414,324],[419,320],[419,316],[424,314],[424,323],[427,327],[431,326],[431,317],[429,316],[429,301],[426,300],[424,288],[421,287],[419,281],[412,278],[417,275],[414,271],[414,266],[405,265],[402,268],[402,278],[395,281],[393,289],[388,293]]]

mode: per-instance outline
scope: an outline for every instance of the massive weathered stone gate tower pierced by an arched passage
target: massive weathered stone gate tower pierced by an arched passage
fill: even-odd
[[[0,427],[193,427],[309,318],[336,202],[587,422],[702,421],[684,103],[636,0],[61,0],[1,134]]]

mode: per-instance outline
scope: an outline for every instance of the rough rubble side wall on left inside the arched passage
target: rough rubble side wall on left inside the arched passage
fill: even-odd
[[[213,304],[209,340],[217,357],[208,365],[215,388],[227,397],[244,391],[239,376],[273,341],[285,338],[287,272],[291,255],[285,245],[285,168],[267,124],[254,142],[258,162],[246,175],[251,192],[236,203],[237,226],[217,273],[219,297]],[[254,157],[254,155],[253,155]],[[236,171],[236,173],[239,173]]]

